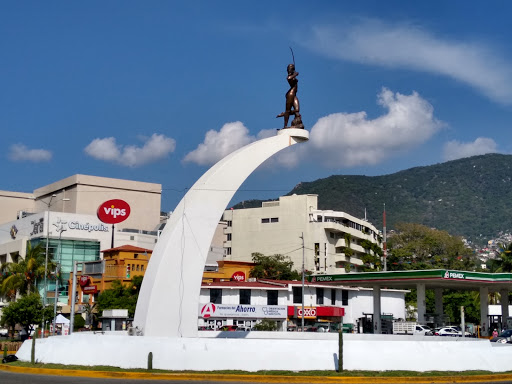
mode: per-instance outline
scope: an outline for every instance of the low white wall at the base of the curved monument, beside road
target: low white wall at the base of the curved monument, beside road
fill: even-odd
[[[335,370],[338,334],[297,332],[204,332],[198,338],[136,337],[75,333],[36,341],[42,363],[109,365],[167,370]],[[219,336],[222,336],[219,337]],[[223,337],[228,336],[228,338]],[[276,338],[279,337],[279,338]],[[346,370],[510,370],[512,346],[488,340],[397,335],[344,334]],[[494,344],[494,343],[493,343]],[[32,341],[16,354],[30,361]]]

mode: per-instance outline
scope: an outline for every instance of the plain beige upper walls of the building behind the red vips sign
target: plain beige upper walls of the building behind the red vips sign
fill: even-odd
[[[0,224],[44,211],[96,215],[105,201],[121,199],[131,207],[118,230],[154,231],[160,224],[161,184],[73,175],[36,189],[33,193],[0,191]]]

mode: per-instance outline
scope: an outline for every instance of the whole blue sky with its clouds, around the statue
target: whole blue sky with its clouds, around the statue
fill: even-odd
[[[282,127],[295,52],[307,144],[233,203],[333,174],[512,153],[506,1],[4,1],[0,189],[76,173],[162,184],[162,209]]]

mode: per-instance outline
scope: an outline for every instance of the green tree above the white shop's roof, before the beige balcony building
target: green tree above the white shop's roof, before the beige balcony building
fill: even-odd
[[[270,280],[299,280],[301,274],[293,268],[293,262],[283,255],[265,256],[253,253],[252,261],[256,264],[250,277]]]

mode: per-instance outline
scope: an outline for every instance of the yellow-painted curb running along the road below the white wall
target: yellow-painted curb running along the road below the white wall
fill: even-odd
[[[82,371],[77,369],[28,368],[0,364],[0,370],[32,375],[53,375],[70,377],[94,377],[125,380],[176,380],[176,381],[236,381],[258,383],[343,383],[343,384],[391,384],[391,383],[475,383],[512,381],[512,374],[491,374],[475,376],[430,376],[430,377],[336,377],[336,376],[273,376],[236,375],[217,373],[149,373],[149,372],[106,372]]]

